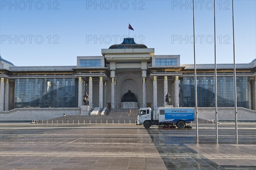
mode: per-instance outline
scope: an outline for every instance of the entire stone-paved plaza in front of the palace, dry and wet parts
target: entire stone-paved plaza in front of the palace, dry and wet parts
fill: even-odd
[[[192,124],[195,127],[195,124]],[[255,170],[256,124],[0,124],[0,170]]]

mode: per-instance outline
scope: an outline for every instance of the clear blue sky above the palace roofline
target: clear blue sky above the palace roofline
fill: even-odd
[[[197,63],[214,63],[213,0],[195,0]],[[16,66],[70,66],[130,37],[192,64],[192,0],[0,0],[0,54]],[[236,63],[256,58],[256,0],[234,0]],[[43,40],[42,40],[43,38]],[[95,39],[96,38],[96,39]],[[233,63],[232,1],[216,0],[217,63]]]

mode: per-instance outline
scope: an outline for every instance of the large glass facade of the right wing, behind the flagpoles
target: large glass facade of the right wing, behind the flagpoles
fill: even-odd
[[[215,107],[214,77],[198,77],[198,107]],[[217,78],[218,107],[234,107],[233,77]],[[236,78],[237,107],[248,108],[247,77]],[[180,80],[180,107],[195,107],[194,77]]]

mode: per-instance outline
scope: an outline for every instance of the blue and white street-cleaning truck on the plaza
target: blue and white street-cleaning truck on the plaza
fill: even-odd
[[[182,129],[190,127],[191,121],[195,121],[195,110],[193,107],[158,107],[154,111],[151,108],[140,108],[136,124],[145,128],[151,125],[164,127],[177,126]]]

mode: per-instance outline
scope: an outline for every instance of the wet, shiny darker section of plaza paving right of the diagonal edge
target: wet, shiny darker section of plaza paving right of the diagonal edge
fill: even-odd
[[[255,130],[239,130],[238,141],[233,133],[219,130],[217,143],[211,129],[199,130],[198,140],[195,129],[148,129],[168,170],[255,170]]]

